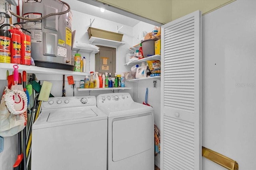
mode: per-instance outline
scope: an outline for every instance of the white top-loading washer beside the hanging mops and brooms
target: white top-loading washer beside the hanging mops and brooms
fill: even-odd
[[[32,170],[106,170],[107,119],[95,96],[42,102],[32,125]]]

